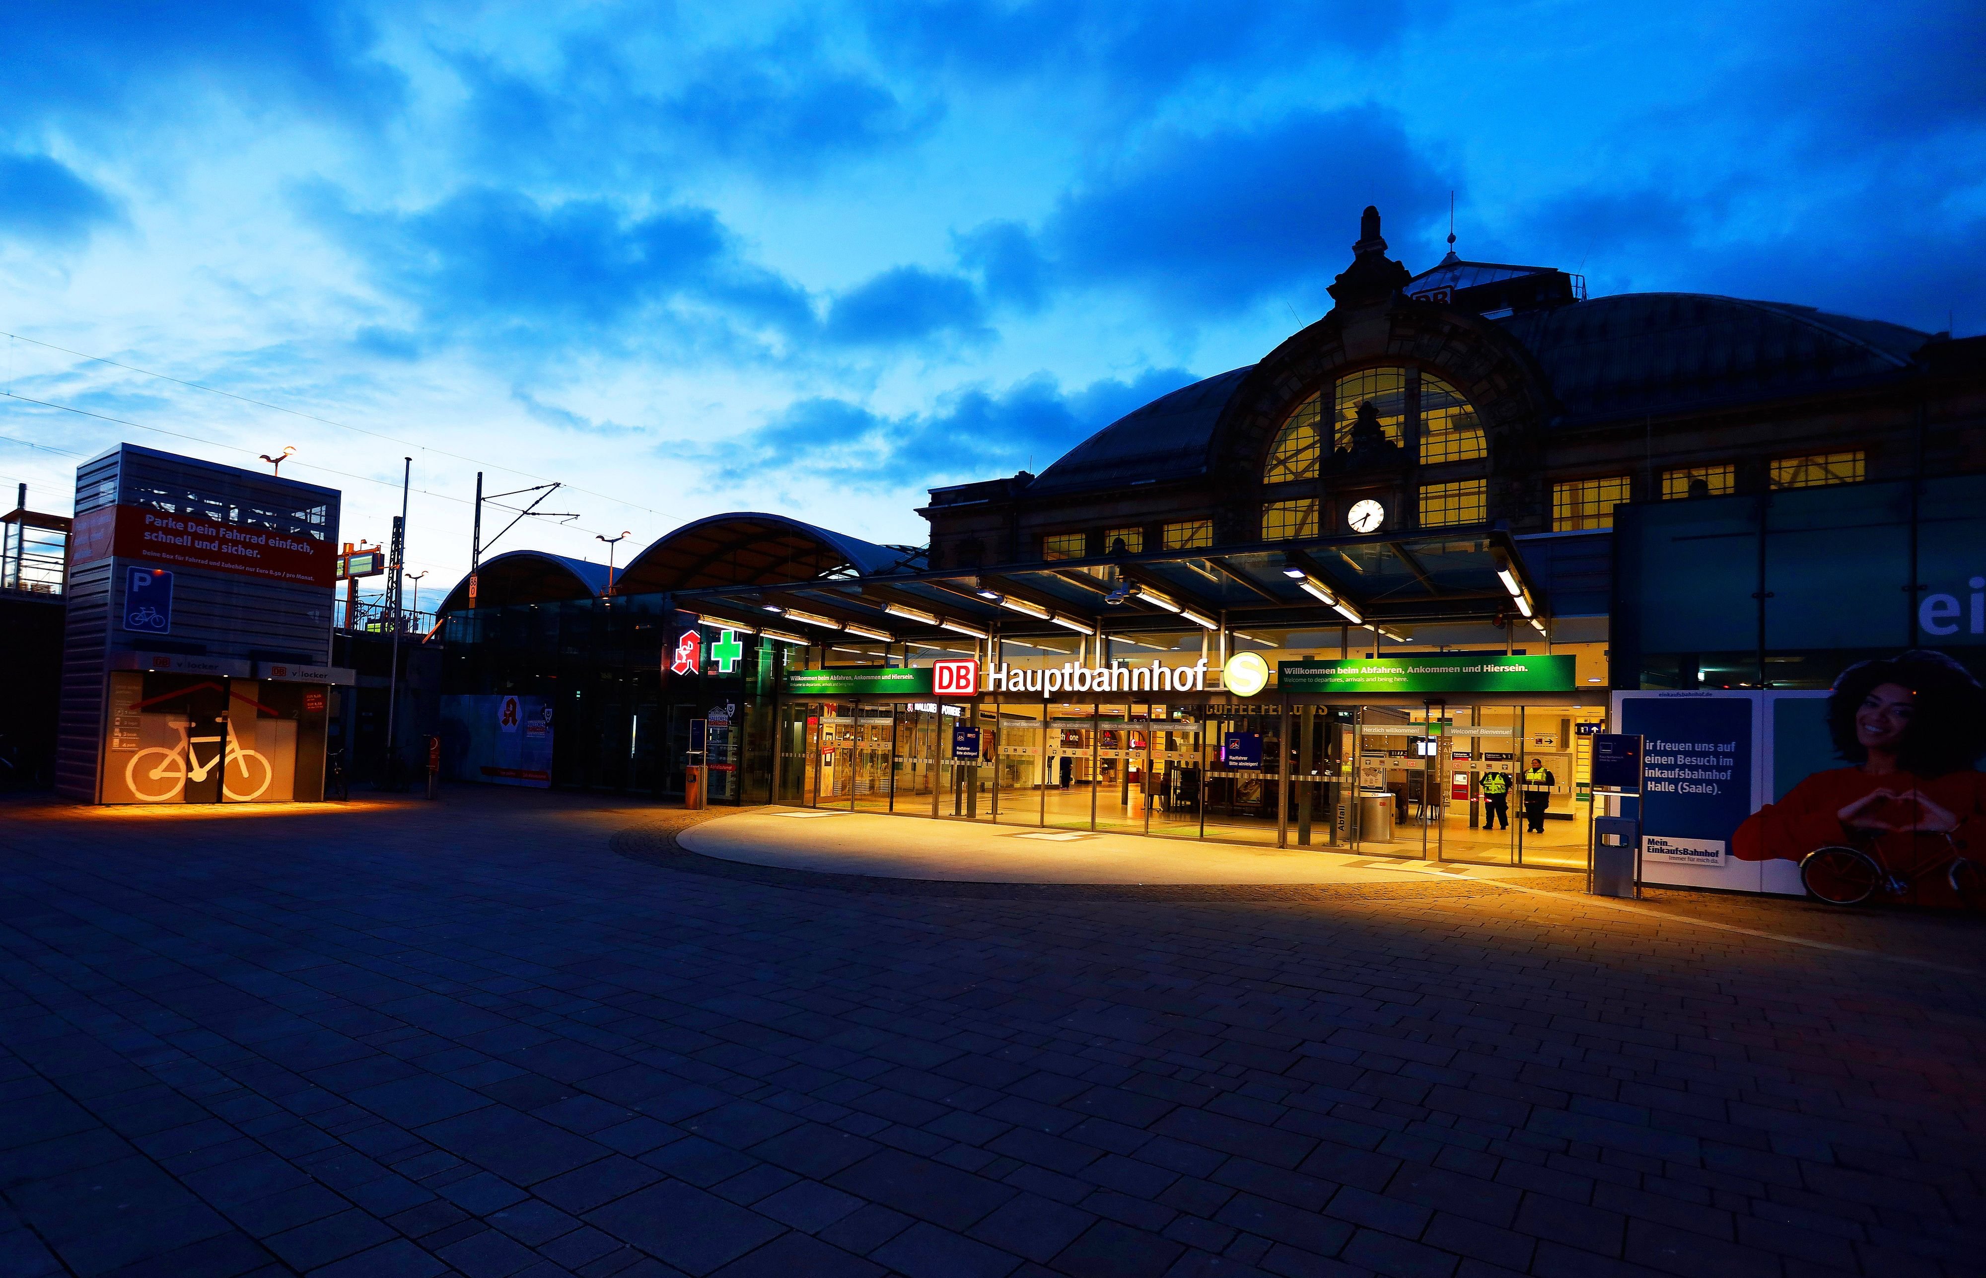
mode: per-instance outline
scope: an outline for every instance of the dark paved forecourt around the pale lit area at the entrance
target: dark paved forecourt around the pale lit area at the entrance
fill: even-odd
[[[1976,978],[1472,883],[846,891],[683,820],[0,808],[0,1274],[1982,1272]]]

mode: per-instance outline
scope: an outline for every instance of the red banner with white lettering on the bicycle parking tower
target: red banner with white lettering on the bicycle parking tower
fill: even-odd
[[[332,585],[338,574],[332,542],[145,506],[99,506],[77,516],[71,546],[77,566],[117,556],[300,585]]]

